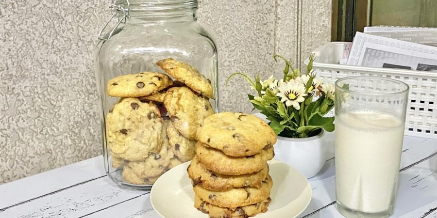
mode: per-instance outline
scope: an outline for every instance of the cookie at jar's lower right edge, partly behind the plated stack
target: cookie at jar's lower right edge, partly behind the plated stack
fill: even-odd
[[[167,127],[167,135],[170,147],[175,156],[182,162],[193,159],[193,156],[196,155],[196,140],[185,138],[172,124]]]

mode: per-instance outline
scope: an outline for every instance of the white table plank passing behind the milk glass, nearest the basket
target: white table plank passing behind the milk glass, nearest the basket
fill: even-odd
[[[401,170],[408,170],[415,167],[415,164],[420,164],[418,163],[420,161],[426,161],[424,160],[426,157],[429,157],[436,152],[436,139],[424,139],[419,137],[405,136],[405,139],[403,141]],[[322,171],[309,180],[311,187],[313,188],[313,197],[306,210],[302,213],[302,218],[313,217],[314,214],[318,214],[325,208],[332,207],[329,205],[333,204],[333,202],[336,201],[334,162],[335,159],[327,161]],[[437,187],[436,189],[434,189],[434,191],[437,192]]]

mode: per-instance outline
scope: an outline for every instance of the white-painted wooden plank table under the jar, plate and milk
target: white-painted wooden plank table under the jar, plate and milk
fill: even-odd
[[[323,170],[309,180],[313,198],[301,218],[342,217],[336,211],[334,163],[334,157],[328,159]],[[437,140],[406,136],[393,218],[437,218],[436,169]],[[123,190],[110,181],[103,158],[98,156],[0,186],[0,218],[48,217],[159,215],[151,207],[148,192]]]

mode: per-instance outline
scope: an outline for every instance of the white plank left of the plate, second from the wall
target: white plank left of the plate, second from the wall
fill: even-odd
[[[121,189],[110,181],[109,177],[105,176],[61,192],[10,207],[1,211],[0,217],[80,218],[147,194],[148,192],[145,191]]]

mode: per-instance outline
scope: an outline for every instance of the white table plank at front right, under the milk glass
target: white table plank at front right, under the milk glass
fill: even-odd
[[[437,151],[437,150],[436,150]],[[435,218],[437,215],[437,154],[401,171],[392,218]],[[308,217],[342,218],[332,204]]]

